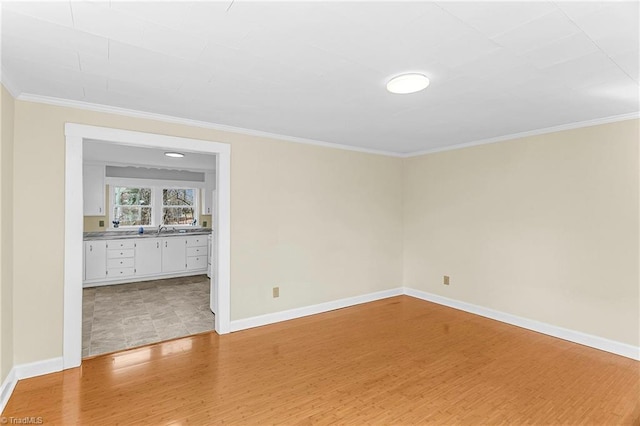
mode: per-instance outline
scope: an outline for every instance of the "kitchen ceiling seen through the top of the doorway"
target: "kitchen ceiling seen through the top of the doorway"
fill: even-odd
[[[164,155],[166,151],[86,140],[82,158],[85,162],[112,166],[150,166],[196,172],[213,172],[216,169],[215,154],[180,151],[185,155],[183,158],[172,158]]]

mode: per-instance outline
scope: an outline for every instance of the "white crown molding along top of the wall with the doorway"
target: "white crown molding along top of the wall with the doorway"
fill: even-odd
[[[70,99],[53,98],[50,96],[33,95],[30,93],[22,93],[17,97],[19,101],[36,102],[47,105],[62,106],[67,108],[77,108],[88,111],[103,112],[106,114],[124,115],[127,117],[143,118],[147,120],[163,121],[166,123],[182,124],[191,127],[200,127],[204,129],[219,130],[222,132],[241,133],[249,136],[260,138],[278,139],[287,142],[302,143],[306,145],[316,145],[326,148],[343,149],[346,151],[364,152],[367,154],[386,155],[390,157],[400,157],[401,154],[383,151],[377,149],[360,148],[350,145],[342,145],[332,142],[317,141],[314,139],[301,138],[297,136],[281,135],[278,133],[263,132],[261,130],[246,129],[243,127],[228,126],[225,124],[209,123],[206,121],[192,120],[189,118],[173,117],[170,115],[156,114],[152,112],[144,112],[127,108],[112,107],[108,105],[94,104],[90,102],[74,101]],[[181,148],[180,148],[181,149]]]

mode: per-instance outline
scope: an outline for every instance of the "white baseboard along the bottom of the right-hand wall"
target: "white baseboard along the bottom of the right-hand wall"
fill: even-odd
[[[505,312],[495,311],[493,309],[449,299],[447,297],[438,296],[437,294],[427,293],[425,291],[414,290],[412,288],[405,287],[404,294],[640,361],[640,347],[629,345],[627,343],[605,339],[604,337],[558,327]]]

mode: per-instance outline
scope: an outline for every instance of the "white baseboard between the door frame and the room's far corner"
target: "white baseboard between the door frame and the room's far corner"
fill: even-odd
[[[302,308],[294,308],[287,311],[280,311],[271,314],[244,318],[231,321],[231,331],[234,332],[246,330],[248,328],[260,327],[263,325],[273,324],[281,321],[289,321],[292,319],[321,314],[323,312],[329,312],[336,309],[348,308],[349,306],[360,305],[362,303],[373,302],[376,300],[386,299],[394,296],[401,296],[402,294],[404,294],[402,288],[394,288],[391,290],[383,290],[375,293],[363,294],[361,296],[332,300],[330,302],[319,303],[317,305],[304,306]]]

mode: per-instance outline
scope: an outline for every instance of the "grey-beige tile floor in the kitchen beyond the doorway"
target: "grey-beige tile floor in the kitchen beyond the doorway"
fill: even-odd
[[[83,358],[213,329],[206,275],[83,290]]]

